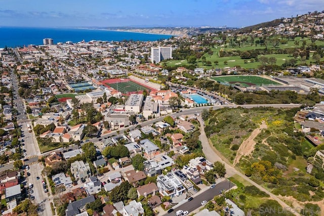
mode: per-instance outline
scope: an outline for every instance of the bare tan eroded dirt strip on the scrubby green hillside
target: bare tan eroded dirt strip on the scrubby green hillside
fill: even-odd
[[[262,129],[267,128],[267,124],[265,121],[262,121],[261,125],[254,129],[254,131],[251,133],[251,136],[248,137],[245,141],[242,142],[242,144],[239,146],[239,149],[237,150],[235,159],[233,161],[233,166],[235,166],[239,159],[241,159],[242,156],[250,155],[253,150],[256,142],[254,139],[261,133]]]

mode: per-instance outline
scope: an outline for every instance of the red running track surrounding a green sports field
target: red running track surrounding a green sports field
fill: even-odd
[[[134,93],[141,94],[144,90],[155,91],[152,87],[129,78],[105,79],[102,81],[102,84],[126,95]]]

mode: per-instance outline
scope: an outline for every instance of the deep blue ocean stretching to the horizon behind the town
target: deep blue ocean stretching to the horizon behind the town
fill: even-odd
[[[0,27],[0,48],[43,45],[43,38],[52,38],[57,42],[79,42],[85,40],[140,40],[152,41],[170,38],[171,35],[147,34],[125,31],[108,31],[80,28],[35,28],[35,27]]]

